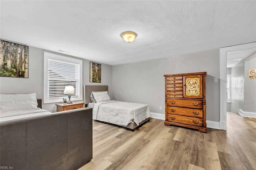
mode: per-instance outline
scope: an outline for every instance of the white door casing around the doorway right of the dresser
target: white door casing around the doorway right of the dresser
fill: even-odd
[[[227,103],[226,103],[226,77],[227,77],[227,53],[246,50],[256,47],[256,42],[234,45],[220,48],[220,129],[226,130]]]

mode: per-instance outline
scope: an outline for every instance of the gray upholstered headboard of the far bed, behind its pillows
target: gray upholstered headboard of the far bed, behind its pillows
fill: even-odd
[[[108,91],[108,85],[84,85],[84,102],[90,103],[92,91]]]

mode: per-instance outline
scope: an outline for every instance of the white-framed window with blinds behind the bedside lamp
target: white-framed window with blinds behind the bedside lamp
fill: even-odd
[[[67,98],[65,86],[73,86],[71,100],[82,100],[82,60],[44,52],[44,103]]]

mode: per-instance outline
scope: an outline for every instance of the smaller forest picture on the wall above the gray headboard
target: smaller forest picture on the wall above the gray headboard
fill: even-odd
[[[90,82],[101,83],[101,64],[90,62]]]

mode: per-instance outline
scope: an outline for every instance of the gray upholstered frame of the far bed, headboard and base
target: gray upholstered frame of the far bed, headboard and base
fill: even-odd
[[[90,103],[90,95],[92,91],[108,91],[108,85],[84,85],[84,102],[86,103],[86,105]],[[118,125],[118,126],[126,127],[134,131],[137,127],[149,121],[150,121],[150,117],[145,119],[141,123],[139,123],[139,125],[136,125],[136,123],[131,122],[127,126],[124,126],[124,125]]]

